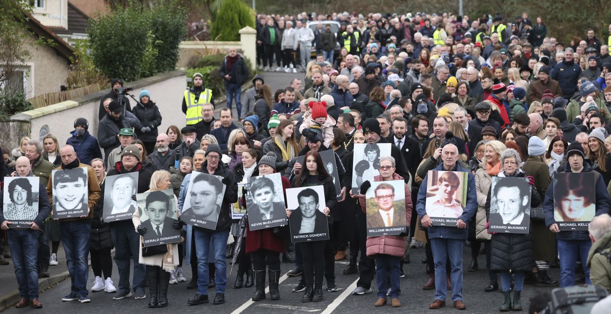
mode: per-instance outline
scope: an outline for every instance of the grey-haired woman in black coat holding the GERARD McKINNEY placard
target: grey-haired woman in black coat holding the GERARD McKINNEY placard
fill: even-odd
[[[522,160],[520,154],[515,149],[505,149],[500,156],[502,171],[498,177],[525,177],[524,171],[518,168]],[[535,180],[529,176],[529,183],[535,184]],[[508,188],[505,190],[510,191]],[[517,187],[511,189],[519,190]],[[502,191],[499,191],[499,193]],[[486,218],[490,217],[491,193],[488,191],[488,201],[486,201]],[[510,193],[507,193],[510,194]],[[519,192],[518,192],[519,194]],[[538,207],[541,204],[541,196],[533,187],[530,192],[530,206]],[[497,196],[498,197],[498,196]],[[519,194],[519,198],[525,195]],[[492,234],[491,246],[491,270],[500,273],[500,284],[503,290],[503,304],[499,310],[502,312],[513,309],[521,311],[522,304],[520,294],[524,287],[524,274],[532,268],[532,234]],[[514,275],[513,301],[511,300],[511,277]]]

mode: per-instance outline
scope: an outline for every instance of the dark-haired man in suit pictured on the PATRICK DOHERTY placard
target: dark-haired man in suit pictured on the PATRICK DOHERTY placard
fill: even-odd
[[[327,216],[318,210],[318,193],[305,188],[297,194],[299,208],[293,210],[290,218],[291,235],[323,234],[327,232]]]

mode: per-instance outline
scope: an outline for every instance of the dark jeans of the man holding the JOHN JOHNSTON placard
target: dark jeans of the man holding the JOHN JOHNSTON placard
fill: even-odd
[[[149,230],[152,232],[153,230]],[[119,291],[130,291],[130,254],[134,260],[134,277],[132,285],[144,290],[147,285],[146,266],[139,262],[140,235],[134,230],[131,220],[111,223],[112,243],[115,246],[115,263],[119,270]]]

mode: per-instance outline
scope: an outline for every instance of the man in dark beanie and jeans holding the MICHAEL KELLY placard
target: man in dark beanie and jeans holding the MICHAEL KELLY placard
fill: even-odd
[[[598,216],[602,213],[609,213],[610,205],[607,186],[601,174],[592,169],[590,163],[584,162],[584,148],[579,143],[569,145],[566,149],[566,159],[568,164],[562,173],[554,174],[554,179],[547,188],[544,204],[545,224],[549,230],[557,233],[556,240],[558,242],[558,255],[560,256],[560,287],[575,284],[577,255],[581,257],[582,262],[587,261],[588,251],[592,243],[587,231],[590,221],[565,223],[558,221],[556,218],[558,216],[579,218],[578,216],[582,215],[573,214],[573,212],[587,210],[584,207],[594,202],[596,203],[595,215]],[[567,182],[566,177],[563,177],[567,174],[571,176],[569,181],[577,179],[580,182],[579,187],[573,187],[573,184]],[[590,179],[587,179],[588,176],[590,176]],[[590,193],[587,193],[587,190],[592,191],[592,186],[594,186],[593,198],[588,196]],[[563,227],[563,225],[566,227]],[[590,269],[587,268],[585,263],[582,263],[582,266],[584,267],[585,282],[591,284]]]

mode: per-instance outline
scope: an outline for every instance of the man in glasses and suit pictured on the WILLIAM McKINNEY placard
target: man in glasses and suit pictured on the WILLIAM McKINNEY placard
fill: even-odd
[[[387,183],[379,184],[374,190],[378,210],[367,215],[367,228],[405,226],[404,210],[395,210],[395,188]]]

